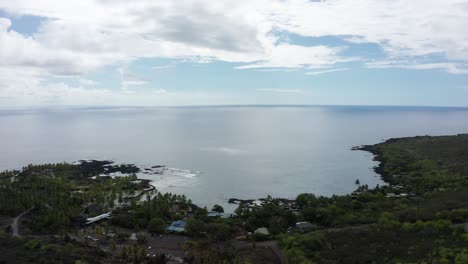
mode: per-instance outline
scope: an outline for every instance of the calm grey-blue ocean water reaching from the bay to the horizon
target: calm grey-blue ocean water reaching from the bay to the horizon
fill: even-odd
[[[464,108],[0,110],[0,169],[80,159],[166,165],[177,169],[140,176],[162,191],[212,206],[231,197],[344,194],[356,179],[381,184],[372,156],[352,146],[465,132]]]

